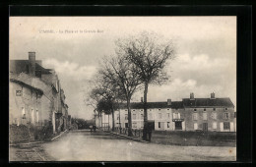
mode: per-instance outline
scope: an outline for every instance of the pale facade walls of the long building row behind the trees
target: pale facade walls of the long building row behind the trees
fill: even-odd
[[[215,111],[213,107],[179,109],[151,108],[148,109],[148,120],[155,121],[156,131],[203,131],[203,124],[207,123],[207,131],[235,132],[236,123],[234,119],[234,109],[233,107],[229,107],[225,110],[225,108],[226,107],[217,107]],[[194,111],[194,109],[196,109],[196,111]],[[204,109],[206,109],[206,111],[204,111]],[[193,114],[195,113],[197,113],[197,120],[193,119]],[[224,118],[224,113],[228,113],[228,119]],[[144,120],[141,114],[144,114],[143,109],[131,109],[132,129],[143,129]],[[205,114],[206,120],[204,120]],[[119,111],[115,111],[114,119],[115,127],[119,127]],[[175,128],[175,120],[180,122],[181,129]],[[224,130],[224,122],[230,124],[229,130]],[[125,124],[128,124],[128,111],[126,109],[120,110],[120,123],[122,128],[125,128]],[[108,124],[107,115],[103,113],[102,124]],[[112,127],[111,115],[109,115],[109,126],[110,128]]]

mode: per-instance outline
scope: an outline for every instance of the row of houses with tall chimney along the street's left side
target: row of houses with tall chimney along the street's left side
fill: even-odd
[[[57,74],[35,60],[10,60],[10,124],[52,126],[53,133],[67,129],[68,105]]]

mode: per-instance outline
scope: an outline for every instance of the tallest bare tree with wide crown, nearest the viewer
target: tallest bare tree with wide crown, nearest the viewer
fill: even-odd
[[[144,84],[144,131],[147,139],[147,95],[149,84],[161,84],[167,80],[164,67],[168,60],[174,58],[174,47],[171,41],[163,41],[156,33],[144,31],[137,36],[118,39],[116,53],[133,64],[132,73]]]

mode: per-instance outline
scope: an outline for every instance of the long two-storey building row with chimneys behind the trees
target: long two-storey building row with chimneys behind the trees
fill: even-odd
[[[229,98],[183,98],[182,101],[148,102],[148,121],[156,131],[216,131],[235,132],[234,105]],[[114,113],[115,127],[128,128],[128,110],[126,104]],[[102,125],[108,120],[102,116]],[[143,103],[131,103],[132,129],[143,129]],[[120,123],[120,124],[119,124]],[[110,117],[109,126],[112,127]]]

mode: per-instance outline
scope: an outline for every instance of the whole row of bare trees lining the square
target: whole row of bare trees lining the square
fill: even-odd
[[[88,103],[95,111],[112,114],[119,104],[126,102],[128,110],[128,136],[132,136],[131,98],[138,89],[144,89],[144,131],[147,139],[147,96],[150,84],[162,84],[168,80],[164,72],[169,60],[174,58],[173,43],[162,36],[143,31],[136,36],[115,41],[115,55],[105,57],[100,64]]]

